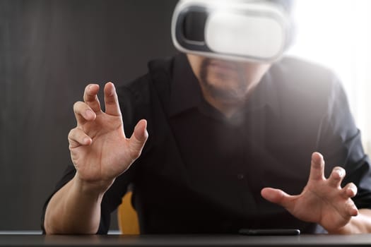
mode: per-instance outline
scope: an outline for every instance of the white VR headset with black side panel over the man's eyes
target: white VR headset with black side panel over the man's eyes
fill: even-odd
[[[292,39],[290,15],[269,0],[180,0],[172,42],[180,52],[218,59],[272,62]]]

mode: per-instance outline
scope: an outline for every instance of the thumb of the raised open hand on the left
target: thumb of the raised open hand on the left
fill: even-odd
[[[146,140],[148,139],[147,132],[147,121],[146,119],[141,119],[134,128],[134,132],[129,139],[129,147],[131,151],[131,157],[136,159],[141,155]]]

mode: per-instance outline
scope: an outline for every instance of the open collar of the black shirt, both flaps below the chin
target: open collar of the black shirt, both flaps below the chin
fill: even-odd
[[[242,112],[268,106],[274,113],[279,114],[278,95],[273,77],[277,80],[281,78],[276,78],[274,71],[273,65],[261,78],[261,82],[250,95]],[[187,109],[199,107],[202,102],[204,100],[199,81],[192,71],[187,56],[185,54],[177,54],[172,67],[170,116],[175,116]]]

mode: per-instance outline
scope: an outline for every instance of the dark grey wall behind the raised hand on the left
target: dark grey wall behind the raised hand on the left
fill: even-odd
[[[39,230],[66,164],[73,103],[175,53],[175,0],[0,0],[0,230]]]

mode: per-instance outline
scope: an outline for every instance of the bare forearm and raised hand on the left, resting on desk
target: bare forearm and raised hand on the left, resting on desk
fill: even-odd
[[[106,112],[100,109],[98,90],[88,85],[84,102],[73,106],[77,126],[69,133],[69,149],[76,175],[47,205],[47,234],[95,234],[105,191],[139,157],[148,138],[145,120],[126,138],[114,85],[105,85]]]

